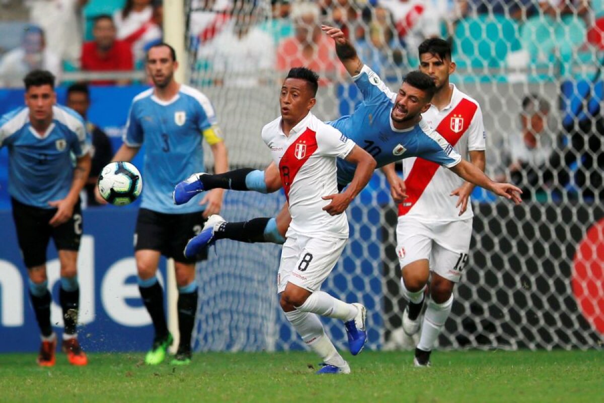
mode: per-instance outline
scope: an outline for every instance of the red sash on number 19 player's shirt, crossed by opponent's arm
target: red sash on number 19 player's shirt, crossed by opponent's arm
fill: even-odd
[[[455,146],[457,141],[459,141],[461,136],[463,136],[470,126],[477,109],[478,106],[474,102],[463,98],[440,122],[436,131],[439,132],[451,146]],[[399,216],[404,216],[411,210],[411,207],[416,204],[439,167],[440,165],[437,163],[424,160],[423,158],[417,158],[411,168],[409,176],[405,179],[408,198],[406,198],[402,204],[399,204]]]

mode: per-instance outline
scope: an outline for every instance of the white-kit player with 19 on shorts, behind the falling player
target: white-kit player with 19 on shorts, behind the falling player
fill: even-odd
[[[437,92],[423,118],[471,163],[484,171],[485,132],[478,103],[449,83],[455,71],[451,46],[426,39],[419,46],[420,71],[434,80]],[[420,312],[429,287],[415,366],[430,366],[430,352],[451,313],[453,288],[467,263],[472,237],[474,184],[422,158],[403,160],[406,195],[396,227],[402,292],[409,301],[402,318],[405,334],[420,329]],[[452,196],[458,196],[457,198]]]

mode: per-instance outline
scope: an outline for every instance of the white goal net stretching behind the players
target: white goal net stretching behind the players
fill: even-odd
[[[487,173],[518,184],[525,201],[515,207],[474,192],[471,257],[439,348],[601,348],[604,8],[555,0],[452,4],[190,0],[188,81],[216,108],[231,168],[262,168],[271,157],[260,129],[278,116],[281,80],[299,60],[319,55],[311,63],[323,77],[318,117],[349,114],[359,101],[335,54],[321,53],[316,24],[343,27],[392,89],[417,68],[423,37],[451,39],[452,81],[483,111]],[[301,37],[311,45],[292,48]],[[228,221],[274,216],[283,202],[281,193],[226,192],[222,214]],[[347,213],[350,240],[323,289],[367,306],[370,349],[413,347],[400,329],[396,206],[380,172]],[[278,306],[279,254],[277,245],[230,240],[210,249],[198,267],[196,349],[304,348]],[[324,323],[345,348],[342,324]]]

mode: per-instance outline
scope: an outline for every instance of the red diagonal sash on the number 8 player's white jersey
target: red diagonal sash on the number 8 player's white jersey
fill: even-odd
[[[279,161],[279,175],[289,202],[289,189],[300,168],[317,149],[316,132],[306,129],[294,143],[290,144]]]

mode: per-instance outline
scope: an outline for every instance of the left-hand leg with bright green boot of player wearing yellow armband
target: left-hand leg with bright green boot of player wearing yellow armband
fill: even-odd
[[[138,291],[155,329],[153,347],[147,352],[145,363],[156,365],[164,361],[165,353],[173,341],[165,321],[164,290],[156,277],[161,254],[159,251],[143,249],[136,251],[134,256],[137,260]]]

